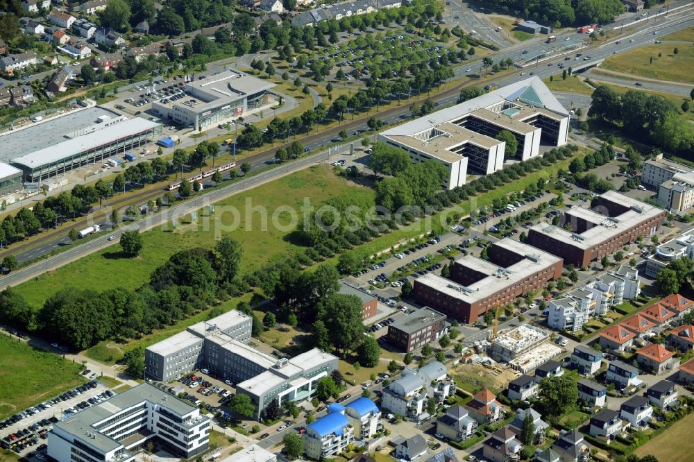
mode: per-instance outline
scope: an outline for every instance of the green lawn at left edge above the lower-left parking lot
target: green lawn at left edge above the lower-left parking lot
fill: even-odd
[[[85,382],[81,364],[9,336],[0,335],[0,351],[0,419]]]

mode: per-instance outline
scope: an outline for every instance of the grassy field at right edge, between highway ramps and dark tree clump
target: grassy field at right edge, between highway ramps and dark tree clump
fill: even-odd
[[[679,53],[673,53],[675,47]],[[658,53],[662,57],[658,58]],[[650,64],[650,58],[653,64]],[[604,69],[624,72],[635,76],[670,80],[672,82],[694,83],[691,69],[694,66],[694,46],[657,44],[643,46],[639,49],[620,53],[607,58],[602,63]]]

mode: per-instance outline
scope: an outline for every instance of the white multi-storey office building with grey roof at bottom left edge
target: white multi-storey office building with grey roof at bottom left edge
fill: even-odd
[[[144,383],[53,425],[48,456],[58,462],[130,462],[150,440],[182,459],[208,448],[210,419]]]

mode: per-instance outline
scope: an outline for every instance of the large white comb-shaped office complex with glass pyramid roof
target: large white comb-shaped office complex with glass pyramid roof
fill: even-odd
[[[518,140],[515,160],[540,154],[540,144],[562,146],[568,137],[566,109],[537,77],[496,89],[380,133],[383,142],[405,149],[416,162],[437,160],[450,171],[447,189],[464,185],[468,175],[501,170],[506,143],[502,130]]]

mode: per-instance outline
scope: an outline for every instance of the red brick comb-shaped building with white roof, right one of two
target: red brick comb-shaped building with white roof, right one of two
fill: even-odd
[[[551,252],[565,262],[589,266],[593,260],[616,252],[636,238],[654,234],[665,220],[665,210],[607,191],[594,201],[593,209],[574,207],[564,214],[571,230],[549,223],[532,226],[525,243]]]

